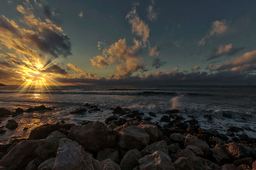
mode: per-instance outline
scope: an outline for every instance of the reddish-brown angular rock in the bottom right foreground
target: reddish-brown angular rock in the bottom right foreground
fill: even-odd
[[[230,142],[229,144],[225,144],[224,147],[230,154],[230,156],[234,159],[249,157],[243,144],[236,144],[234,142]]]

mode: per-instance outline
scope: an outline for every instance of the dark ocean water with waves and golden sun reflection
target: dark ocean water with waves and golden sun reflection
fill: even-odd
[[[16,117],[0,117],[0,126],[6,125],[10,118],[18,122],[18,128],[0,134],[0,142],[7,143],[15,138],[28,137],[30,131],[46,123],[78,124],[82,120],[104,121],[112,114],[111,107],[122,107],[131,110],[156,113],[153,122],[158,122],[165,111],[179,109],[186,120],[193,115],[201,128],[214,128],[222,134],[228,125],[246,128],[238,134],[256,137],[256,86],[51,86],[46,88],[30,88],[22,90],[18,86],[0,87],[0,107],[12,112],[21,107],[28,109],[45,105],[53,111],[38,111],[18,115]],[[97,105],[98,112],[85,112],[82,115],[69,114],[84,104]],[[86,107],[85,107],[86,108]],[[87,109],[87,108],[86,108]],[[224,117],[223,113],[230,115]],[[204,115],[211,115],[208,120]],[[185,120],[184,120],[185,121]],[[165,124],[165,123],[160,123]],[[29,128],[23,130],[23,128]]]

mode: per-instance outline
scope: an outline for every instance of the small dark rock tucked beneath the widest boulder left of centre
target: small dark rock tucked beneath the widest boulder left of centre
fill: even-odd
[[[106,159],[110,158],[111,161],[114,161],[115,163],[120,163],[118,151],[113,148],[106,148],[104,150],[99,150],[97,155],[97,160],[99,162],[104,161]]]

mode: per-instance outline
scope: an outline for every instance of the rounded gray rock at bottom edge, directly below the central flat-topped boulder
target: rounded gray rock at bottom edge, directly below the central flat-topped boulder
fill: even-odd
[[[143,155],[137,149],[129,150],[124,158],[121,160],[120,168],[121,170],[132,170],[136,166],[139,165],[139,159],[142,158]]]

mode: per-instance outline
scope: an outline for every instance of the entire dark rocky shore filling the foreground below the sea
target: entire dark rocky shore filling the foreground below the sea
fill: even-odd
[[[96,112],[96,106],[88,112]],[[0,108],[0,117],[51,109],[44,106],[10,112]],[[82,114],[85,108],[70,114]],[[50,169],[171,169],[171,170],[256,170],[256,139],[236,134],[244,128],[230,126],[226,134],[200,128],[195,117],[184,121],[168,110],[160,122],[156,115],[116,107],[105,123],[83,120],[80,125],[64,121],[34,128],[29,139],[0,144],[0,170]],[[13,117],[13,116],[12,116]],[[207,115],[206,115],[207,117]],[[211,116],[208,117],[211,119]],[[6,128],[18,123],[8,120]],[[246,129],[248,130],[248,129]],[[5,133],[0,128],[0,133]]]

